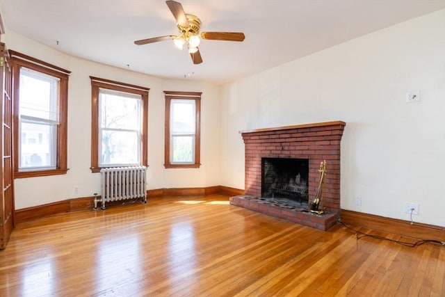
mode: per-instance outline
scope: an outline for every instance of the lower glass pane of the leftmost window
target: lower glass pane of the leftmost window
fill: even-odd
[[[20,169],[55,167],[54,125],[22,122],[20,133]]]

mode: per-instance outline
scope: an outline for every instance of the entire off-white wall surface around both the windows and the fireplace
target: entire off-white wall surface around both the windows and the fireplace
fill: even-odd
[[[341,207],[445,226],[445,10],[228,83],[170,81],[62,54],[7,31],[9,49],[71,70],[67,175],[16,179],[16,209],[99,192],[90,172],[90,79],[150,88],[148,188],[244,188],[240,130],[346,122]],[[286,46],[285,44],[282,46]],[[200,169],[163,167],[163,90],[202,92]],[[421,101],[405,103],[405,92]],[[79,193],[74,193],[79,186]],[[362,197],[362,205],[355,198]]]

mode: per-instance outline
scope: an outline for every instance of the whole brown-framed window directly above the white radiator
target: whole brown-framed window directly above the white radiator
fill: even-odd
[[[147,166],[149,88],[90,77],[91,170]]]

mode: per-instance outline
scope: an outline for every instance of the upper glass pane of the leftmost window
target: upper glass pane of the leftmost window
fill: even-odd
[[[20,68],[19,113],[58,122],[58,82],[47,74]]]

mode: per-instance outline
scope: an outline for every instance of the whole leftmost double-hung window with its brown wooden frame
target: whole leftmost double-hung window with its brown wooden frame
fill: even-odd
[[[67,172],[69,71],[9,51],[13,72],[15,177]]]

